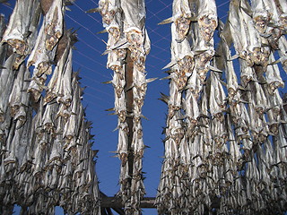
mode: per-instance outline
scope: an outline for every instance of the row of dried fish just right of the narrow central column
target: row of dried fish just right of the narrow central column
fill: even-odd
[[[213,31],[217,26],[214,1],[179,0],[173,2],[172,9],[173,16],[161,22],[172,22],[172,41],[171,62],[166,66],[170,67],[170,97],[162,98],[169,106],[169,115],[156,200],[160,214],[195,212],[199,200],[195,198],[197,191],[189,190],[198,179],[196,168],[204,169],[203,161],[193,159],[197,147],[202,147],[195,140],[202,126],[198,119],[204,120],[197,100],[204,89],[206,74],[213,68],[210,60],[214,55]]]

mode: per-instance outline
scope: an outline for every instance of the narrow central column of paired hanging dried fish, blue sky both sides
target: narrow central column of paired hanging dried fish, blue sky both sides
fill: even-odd
[[[147,83],[145,58],[150,51],[150,39],[145,30],[144,0],[100,0],[104,31],[109,33],[107,67],[113,70],[115,111],[118,118],[117,156],[121,160],[117,196],[125,205],[126,214],[140,213],[143,198],[143,128],[141,118]]]

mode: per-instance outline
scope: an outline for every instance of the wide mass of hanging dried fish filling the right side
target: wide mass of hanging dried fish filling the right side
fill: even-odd
[[[159,214],[283,214],[287,115],[278,63],[287,72],[286,1],[231,0],[223,24],[214,0],[174,0],[161,24],[169,22]]]

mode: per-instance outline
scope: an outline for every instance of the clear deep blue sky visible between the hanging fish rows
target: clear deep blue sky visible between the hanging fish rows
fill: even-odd
[[[9,1],[11,6],[0,4],[0,13],[8,15],[12,13],[14,0]],[[227,17],[229,0],[217,0],[218,14],[225,21]],[[113,158],[109,151],[117,150],[117,116],[109,116],[104,111],[114,107],[114,92],[111,85],[103,84],[112,78],[112,71],[106,68],[107,56],[100,56],[105,50],[108,34],[97,34],[103,30],[99,13],[84,13],[95,8],[98,0],[76,1],[69,6],[65,22],[67,28],[77,30],[79,42],[75,44],[74,71],[80,69],[82,86],[86,86],[83,95],[83,106],[86,108],[86,117],[93,123],[91,132],[95,134],[94,149],[100,150],[96,172],[100,180],[100,190],[109,196],[117,193],[119,160]],[[166,76],[161,70],[170,63],[170,24],[157,25],[172,14],[172,0],[146,0],[147,19],[146,28],[152,41],[152,50],[146,61],[147,78]],[[143,119],[143,141],[151,148],[144,151],[143,172],[146,172],[144,185],[146,196],[155,196],[161,176],[161,156],[163,155],[163,143],[161,139],[162,127],[165,126],[165,114],[167,106],[159,100],[160,92],[169,94],[167,80],[151,82],[143,106],[143,115],[149,120]],[[15,214],[19,214],[19,209]],[[63,211],[57,209],[57,214]],[[143,214],[156,214],[153,210],[143,210]]]

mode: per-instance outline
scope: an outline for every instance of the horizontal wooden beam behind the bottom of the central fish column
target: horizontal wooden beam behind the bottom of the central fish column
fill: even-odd
[[[154,205],[155,197],[143,197],[141,201],[140,208],[156,208]],[[102,208],[124,208],[121,199],[117,197],[102,196],[100,207]]]

